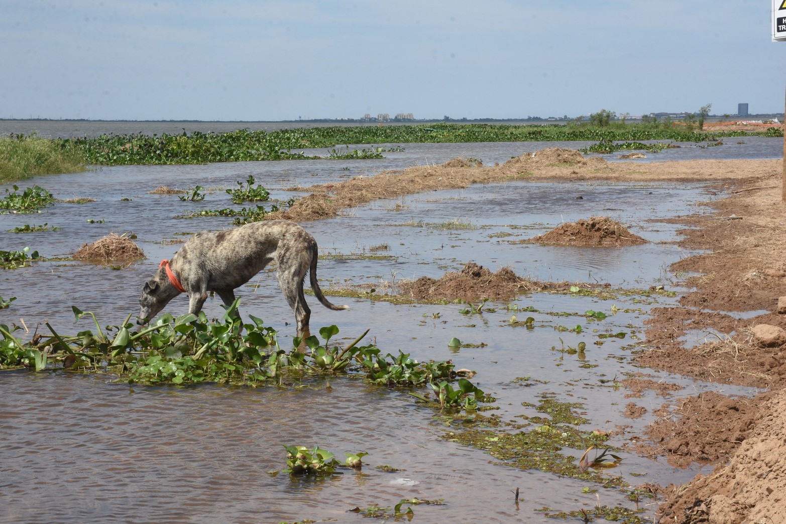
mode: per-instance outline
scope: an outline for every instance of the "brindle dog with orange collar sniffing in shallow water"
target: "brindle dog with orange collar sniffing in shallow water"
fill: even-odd
[[[138,324],[146,324],[180,293],[189,295],[189,313],[199,313],[215,291],[230,306],[236,288],[251,280],[265,266],[277,262],[278,287],[295,312],[298,333],[308,332],[311,310],[303,295],[303,279],[310,270],[311,289],[322,305],[335,306],[322,294],[317,281],[317,242],[305,229],[288,220],[252,222],[191,237],[171,261],[163,260],[139,295]]]

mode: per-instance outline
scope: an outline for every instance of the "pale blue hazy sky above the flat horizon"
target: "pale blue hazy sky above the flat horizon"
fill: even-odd
[[[784,111],[772,0],[0,0],[0,118]]]

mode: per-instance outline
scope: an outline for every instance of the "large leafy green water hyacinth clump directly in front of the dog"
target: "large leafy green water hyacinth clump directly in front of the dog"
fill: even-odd
[[[48,355],[43,366],[50,362],[83,372],[110,373],[124,383],[212,382],[258,387],[341,375],[387,387],[424,387],[439,381],[446,390],[445,404],[456,408],[474,409],[477,401],[487,400],[482,391],[464,382],[457,390],[461,391],[461,403],[450,400],[457,396],[450,393],[449,381],[457,378],[452,362],[420,363],[401,351],[397,357],[387,354],[388,361],[380,357],[378,347],[359,346],[368,330],[341,347],[331,343],[339,328],[328,326],[319,330],[320,338],[293,338],[292,349],[286,351],[279,345],[277,332],[261,319],[249,315],[249,321],[243,322],[237,317],[238,302],[214,321],[208,321],[204,312],[180,317],[167,313],[139,327],[130,322],[129,315],[122,324],[105,328],[94,313],[72,306],[75,323],[92,319],[94,331],[61,335],[47,323],[50,335],[38,334],[31,342],[21,343],[13,337],[13,329],[3,326],[0,369],[32,367],[30,355],[39,351]],[[466,401],[465,393],[474,394],[474,398]]]

